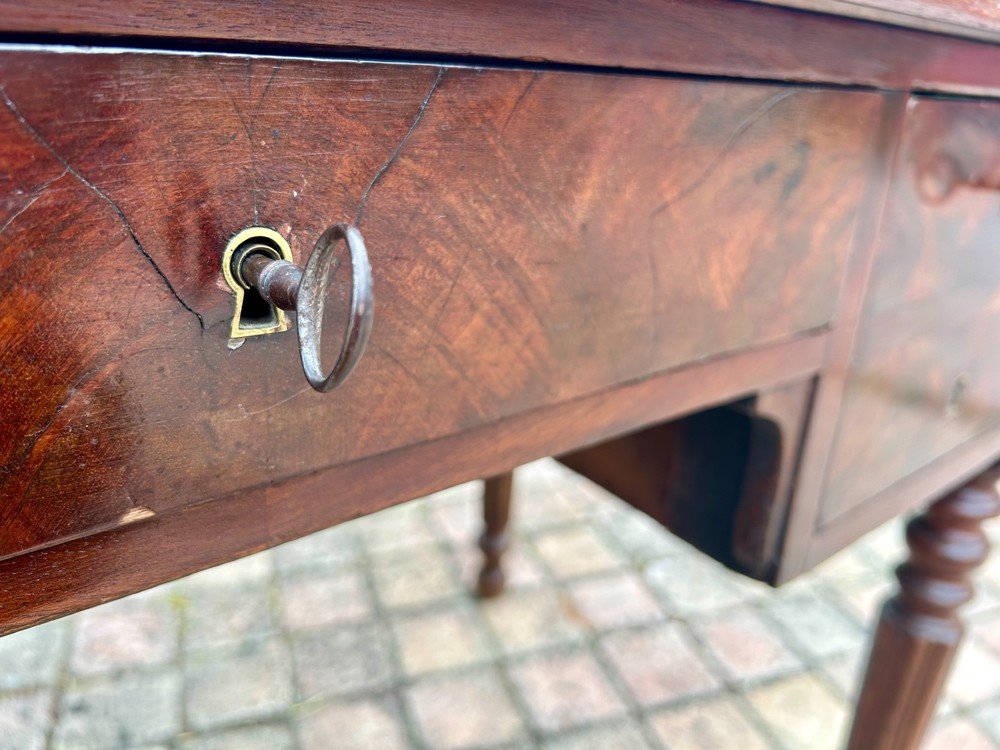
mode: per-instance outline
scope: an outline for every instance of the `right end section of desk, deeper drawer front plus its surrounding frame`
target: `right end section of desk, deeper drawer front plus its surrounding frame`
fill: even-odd
[[[993,102],[916,97],[900,121],[881,229],[845,284],[779,579],[1000,454],[998,116]]]

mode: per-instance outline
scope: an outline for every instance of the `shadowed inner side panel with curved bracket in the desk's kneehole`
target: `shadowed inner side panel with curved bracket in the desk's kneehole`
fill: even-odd
[[[559,457],[682,539],[772,581],[812,380]]]

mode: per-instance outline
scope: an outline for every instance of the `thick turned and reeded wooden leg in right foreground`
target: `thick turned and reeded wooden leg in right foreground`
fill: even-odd
[[[969,574],[989,552],[982,522],[1000,513],[998,479],[996,469],[986,472],[907,525],[910,557],[882,609],[850,750],[919,746],[962,640],[957,610],[972,598]]]

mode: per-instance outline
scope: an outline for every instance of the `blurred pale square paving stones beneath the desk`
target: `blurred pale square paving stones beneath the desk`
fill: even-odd
[[[0,750],[840,747],[899,523],[775,591],[541,461],[480,602],[478,493],[0,639]],[[978,579],[926,750],[1000,748],[1000,555]]]

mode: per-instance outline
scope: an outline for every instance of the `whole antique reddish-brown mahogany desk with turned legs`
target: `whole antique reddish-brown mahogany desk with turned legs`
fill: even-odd
[[[937,501],[851,739],[915,747],[1000,510],[998,15],[0,2],[0,630],[486,476],[497,593],[546,455],[775,584]]]

